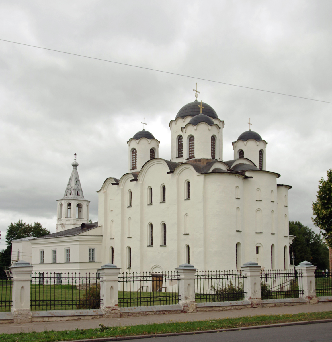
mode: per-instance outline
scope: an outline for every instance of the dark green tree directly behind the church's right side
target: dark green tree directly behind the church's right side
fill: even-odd
[[[318,269],[329,268],[329,249],[320,234],[299,221],[289,221],[289,234],[295,235],[289,249],[290,257],[293,249],[295,265],[306,260]]]

